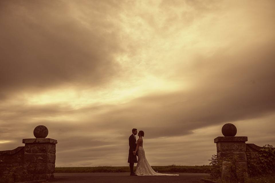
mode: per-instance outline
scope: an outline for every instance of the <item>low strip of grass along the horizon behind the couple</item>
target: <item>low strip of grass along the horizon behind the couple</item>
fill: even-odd
[[[159,173],[206,173],[210,166],[152,166]],[[135,171],[135,167],[134,167]],[[108,172],[130,172],[129,166],[96,166],[96,167],[55,167],[55,173],[108,173]]]

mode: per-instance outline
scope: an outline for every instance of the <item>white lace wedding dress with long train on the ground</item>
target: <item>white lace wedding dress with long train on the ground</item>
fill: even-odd
[[[137,142],[135,142],[135,143],[137,144]],[[143,139],[142,139],[142,144],[143,144]],[[178,175],[178,174],[161,174],[161,173],[155,172],[155,170],[153,170],[153,168],[150,166],[150,164],[146,160],[145,152],[144,152],[144,149],[142,146],[139,146],[137,149],[138,160],[137,160],[137,168],[135,170],[136,175],[140,175],[140,176],[144,176],[144,175],[166,175],[166,176]]]

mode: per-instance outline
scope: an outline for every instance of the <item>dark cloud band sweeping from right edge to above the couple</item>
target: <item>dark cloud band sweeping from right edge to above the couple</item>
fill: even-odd
[[[239,49],[244,50],[199,57],[199,74],[190,72],[196,82],[191,90],[137,98],[104,114],[101,121],[106,128],[137,127],[154,138],[274,113],[274,44]]]

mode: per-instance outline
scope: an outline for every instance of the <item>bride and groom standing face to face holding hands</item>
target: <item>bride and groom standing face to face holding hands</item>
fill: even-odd
[[[138,136],[138,139],[136,137]],[[129,137],[129,156],[128,163],[130,163],[130,175],[178,175],[178,174],[161,174],[155,172],[153,168],[150,166],[145,157],[145,152],[143,149],[143,138],[144,132],[139,131],[137,133],[137,129],[132,129],[132,134]],[[137,160],[138,157],[138,160]],[[137,163],[137,168],[134,172],[134,163]]]

